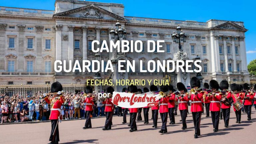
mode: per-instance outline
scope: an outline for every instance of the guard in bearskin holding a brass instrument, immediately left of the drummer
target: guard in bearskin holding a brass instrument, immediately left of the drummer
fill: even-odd
[[[220,82],[220,89],[223,92],[222,99],[221,99],[221,111],[224,119],[224,126],[227,128],[229,124],[229,116],[230,116],[230,98],[232,98],[231,91],[228,91],[228,81],[222,80]]]

